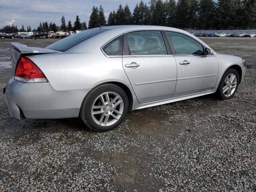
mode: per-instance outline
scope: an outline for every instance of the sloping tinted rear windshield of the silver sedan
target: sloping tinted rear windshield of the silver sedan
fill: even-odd
[[[106,31],[106,29],[88,29],[74,35],[70,35],[69,37],[59,40],[53,44],[50,44],[46,48],[64,52],[104,31]]]

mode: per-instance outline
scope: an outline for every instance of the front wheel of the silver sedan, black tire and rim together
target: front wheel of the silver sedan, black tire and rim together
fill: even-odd
[[[238,89],[239,81],[240,77],[237,70],[232,68],[226,70],[216,91],[218,98],[221,100],[232,98]]]

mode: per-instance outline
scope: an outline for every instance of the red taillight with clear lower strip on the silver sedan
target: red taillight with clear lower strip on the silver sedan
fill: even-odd
[[[22,57],[15,71],[15,79],[22,82],[46,82],[42,71],[29,58]]]

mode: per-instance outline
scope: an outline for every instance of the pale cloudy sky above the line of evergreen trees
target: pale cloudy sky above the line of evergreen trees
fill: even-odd
[[[22,24],[37,28],[39,22],[55,22],[60,26],[62,15],[65,16],[66,24],[71,20],[72,24],[79,16],[80,22],[86,21],[88,25],[92,6],[104,8],[106,20],[110,11],[117,10],[119,4],[126,4],[133,12],[136,3],[140,0],[0,0],[0,28],[15,24],[18,29]],[[144,0],[148,2],[148,0]]]

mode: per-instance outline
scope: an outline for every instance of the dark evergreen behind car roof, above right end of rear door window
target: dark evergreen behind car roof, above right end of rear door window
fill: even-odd
[[[152,10],[152,25],[166,25],[166,9],[162,0],[158,0]]]

